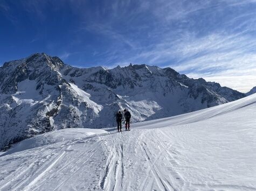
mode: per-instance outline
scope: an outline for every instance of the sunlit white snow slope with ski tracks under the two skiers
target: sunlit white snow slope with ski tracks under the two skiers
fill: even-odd
[[[0,190],[256,190],[256,94],[131,131],[64,129],[0,157]]]

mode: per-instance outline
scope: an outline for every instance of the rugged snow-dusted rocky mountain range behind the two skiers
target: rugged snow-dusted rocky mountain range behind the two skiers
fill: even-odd
[[[171,68],[130,64],[80,69],[58,57],[33,54],[0,67],[0,150],[55,129],[113,127],[115,113],[124,108],[138,122],[243,97]]]

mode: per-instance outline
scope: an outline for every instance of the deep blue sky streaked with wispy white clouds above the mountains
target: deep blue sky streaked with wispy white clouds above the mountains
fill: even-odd
[[[0,65],[36,52],[87,68],[146,63],[256,86],[256,0],[0,0]]]

